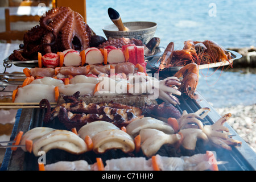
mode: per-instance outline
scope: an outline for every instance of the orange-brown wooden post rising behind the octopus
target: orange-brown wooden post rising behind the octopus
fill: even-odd
[[[56,7],[60,6],[68,6],[73,11],[76,11],[84,18],[84,22],[86,23],[86,0],[56,0]]]

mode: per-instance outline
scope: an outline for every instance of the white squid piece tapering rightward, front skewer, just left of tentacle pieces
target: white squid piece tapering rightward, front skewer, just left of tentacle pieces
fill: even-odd
[[[180,134],[168,135],[156,129],[143,129],[139,135],[141,135],[142,152],[147,157],[155,155],[164,144],[175,144],[182,139]]]

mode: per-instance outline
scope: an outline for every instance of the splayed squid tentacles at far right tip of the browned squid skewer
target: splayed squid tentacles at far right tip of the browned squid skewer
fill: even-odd
[[[224,125],[226,121],[231,117],[231,114],[225,114],[213,125],[205,125],[203,128],[204,133],[209,138],[210,142],[214,145],[225,148],[226,150],[232,150],[230,146],[240,145],[242,142],[229,138],[229,129]]]

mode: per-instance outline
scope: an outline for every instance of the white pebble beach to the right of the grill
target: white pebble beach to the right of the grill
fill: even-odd
[[[256,152],[256,104],[216,108],[215,110],[220,115],[232,114],[228,120],[229,125]]]

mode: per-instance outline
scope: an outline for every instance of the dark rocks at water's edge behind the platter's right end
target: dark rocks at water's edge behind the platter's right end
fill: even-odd
[[[240,59],[233,62],[234,68],[256,68],[256,47],[243,47],[243,48],[226,48],[230,51],[236,51],[242,55]]]

